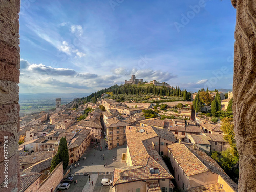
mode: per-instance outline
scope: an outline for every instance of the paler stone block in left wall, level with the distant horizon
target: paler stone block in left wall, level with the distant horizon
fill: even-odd
[[[18,90],[16,82],[0,80],[0,104],[18,104]]]

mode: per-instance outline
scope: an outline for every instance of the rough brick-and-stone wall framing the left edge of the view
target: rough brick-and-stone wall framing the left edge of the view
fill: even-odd
[[[19,190],[19,13],[20,0],[0,1],[0,191]],[[4,138],[7,137],[5,140]],[[4,144],[8,143],[8,148]],[[6,145],[5,145],[6,146]],[[4,159],[8,150],[8,159]],[[7,152],[7,151],[5,151]],[[5,161],[4,160],[9,160]],[[8,173],[4,170],[8,163]],[[8,188],[5,177],[8,178]]]

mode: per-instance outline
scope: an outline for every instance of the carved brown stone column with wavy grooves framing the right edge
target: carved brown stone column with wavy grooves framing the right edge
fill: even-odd
[[[239,152],[239,191],[256,188],[256,1],[231,0],[237,8],[233,113]]]

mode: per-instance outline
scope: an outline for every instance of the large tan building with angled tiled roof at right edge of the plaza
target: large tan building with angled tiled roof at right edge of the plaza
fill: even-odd
[[[126,127],[126,167],[114,169],[112,191],[172,191],[173,176],[160,154],[168,153],[166,143],[176,142],[173,134],[153,126],[139,129]]]

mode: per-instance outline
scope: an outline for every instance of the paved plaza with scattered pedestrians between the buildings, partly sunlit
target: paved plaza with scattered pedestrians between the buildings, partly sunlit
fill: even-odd
[[[103,178],[108,178],[113,181],[114,168],[126,166],[125,163],[121,163],[122,153],[125,152],[126,145],[113,148],[112,150],[104,149],[102,151],[88,147],[86,152],[82,155],[81,161],[76,163],[77,167],[72,170],[74,180],[77,180],[77,184],[74,184],[73,182],[70,184],[69,189],[62,191],[111,192],[112,185],[101,186],[101,180]],[[83,160],[83,157],[86,157],[86,160]],[[105,163],[107,164],[107,167],[104,167]],[[93,185],[92,183],[89,184],[89,176],[84,175],[86,173],[90,174],[90,182],[93,181]]]

